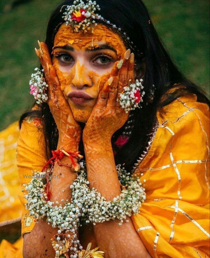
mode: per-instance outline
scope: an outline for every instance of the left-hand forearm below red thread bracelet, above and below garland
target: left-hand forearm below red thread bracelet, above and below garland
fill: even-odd
[[[71,164],[70,159],[64,157],[61,161],[63,164]],[[69,167],[58,166],[55,163],[52,174],[52,179],[49,187],[51,192],[50,200],[54,205],[62,205],[68,199],[71,200],[70,185],[76,179],[77,173],[71,171]],[[56,201],[58,202],[56,204]],[[23,257],[54,257],[55,251],[53,249],[51,238],[56,234],[58,228],[53,228],[47,224],[46,217],[39,220],[35,224],[30,233],[24,235]]]

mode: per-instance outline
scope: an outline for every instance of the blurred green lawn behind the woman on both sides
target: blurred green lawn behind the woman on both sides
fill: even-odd
[[[34,47],[37,39],[45,39],[50,13],[60,3],[34,0],[3,13],[10,2],[0,3],[0,130],[19,119],[34,102],[28,85],[38,63]],[[144,3],[177,65],[209,94],[209,1]]]

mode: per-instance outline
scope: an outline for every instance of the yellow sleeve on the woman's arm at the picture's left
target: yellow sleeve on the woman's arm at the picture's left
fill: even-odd
[[[41,171],[47,162],[45,154],[45,144],[43,127],[41,119],[27,118],[23,121],[19,138],[17,141],[17,167],[21,183],[21,189],[25,189],[23,184],[29,183],[32,179],[34,170]],[[25,190],[24,190],[25,191]],[[24,193],[19,194],[19,199],[23,204],[21,224],[22,236],[24,233],[30,232],[36,220],[30,215],[28,210],[25,209],[26,200]]]

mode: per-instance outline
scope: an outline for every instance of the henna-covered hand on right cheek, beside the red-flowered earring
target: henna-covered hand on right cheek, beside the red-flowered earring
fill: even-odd
[[[119,61],[114,63],[109,80],[104,84],[97,103],[83,130],[84,144],[104,145],[112,135],[120,129],[128,119],[128,113],[121,108],[117,99],[120,98],[125,86],[134,81],[134,53],[128,49],[120,69]]]

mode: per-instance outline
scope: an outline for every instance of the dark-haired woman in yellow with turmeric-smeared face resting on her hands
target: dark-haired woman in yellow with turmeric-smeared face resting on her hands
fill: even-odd
[[[52,174],[43,192],[45,216],[29,198],[23,212],[23,257],[209,255],[209,101],[171,61],[142,1],[64,1],[51,15],[45,43],[38,43],[41,69],[31,80],[38,104],[21,117],[17,148],[23,204],[31,178],[22,175]],[[37,91],[36,76],[47,93]],[[61,220],[74,218],[61,211],[64,200],[75,201],[71,185],[84,168],[82,156],[88,189],[106,199],[104,213],[120,202],[116,197],[131,193],[116,165],[140,178],[128,179],[143,189],[138,212],[123,206],[99,223],[98,210],[86,207],[89,219],[73,224],[76,231],[52,227],[53,205],[61,207]],[[120,221],[120,213],[126,219]],[[89,243],[99,249],[91,253]]]

